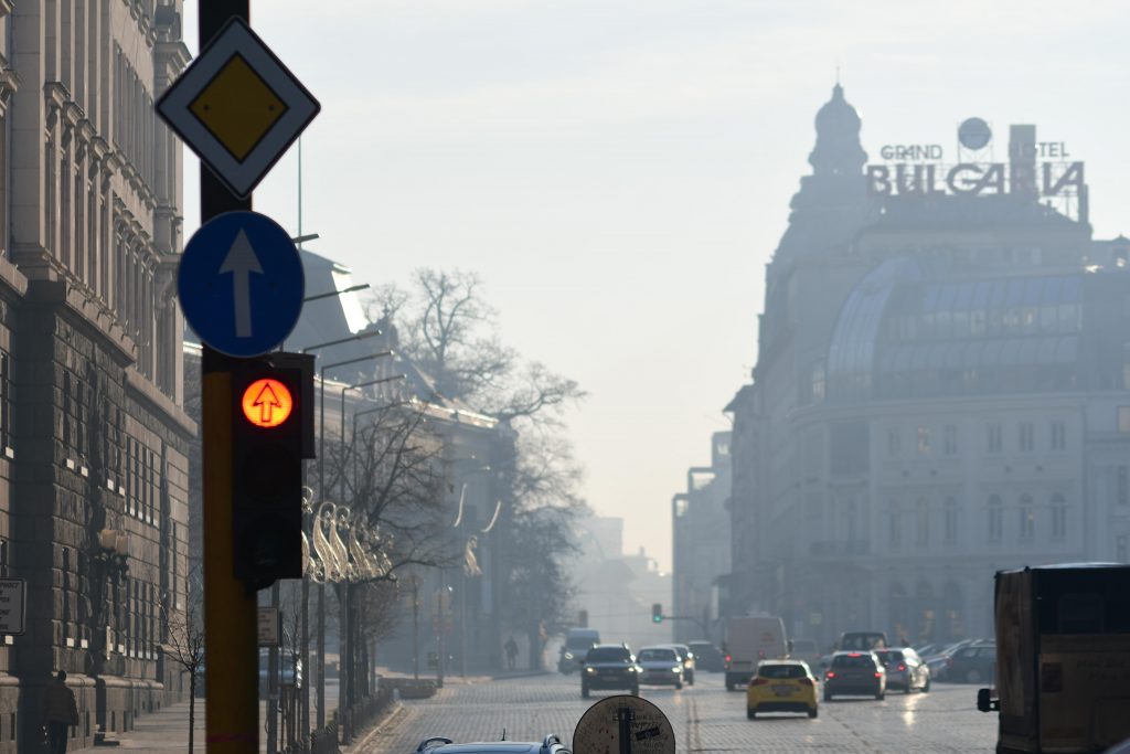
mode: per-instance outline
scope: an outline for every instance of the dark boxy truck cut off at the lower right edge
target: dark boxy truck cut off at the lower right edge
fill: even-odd
[[[997,754],[1097,754],[1130,738],[1130,565],[997,573]]]

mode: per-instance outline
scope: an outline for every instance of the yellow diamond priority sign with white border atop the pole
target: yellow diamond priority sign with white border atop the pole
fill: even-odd
[[[246,197],[321,105],[245,21],[232,19],[157,102],[157,113]]]

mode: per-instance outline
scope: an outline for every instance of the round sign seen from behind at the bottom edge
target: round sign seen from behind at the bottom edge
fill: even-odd
[[[584,713],[573,733],[577,754],[675,754],[675,729],[663,711],[638,696],[609,696]]]

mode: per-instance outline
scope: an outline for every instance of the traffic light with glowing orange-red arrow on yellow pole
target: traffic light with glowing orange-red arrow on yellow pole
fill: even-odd
[[[313,456],[313,372],[312,356],[284,353],[240,359],[232,369],[234,567],[250,589],[302,578],[302,462]]]

